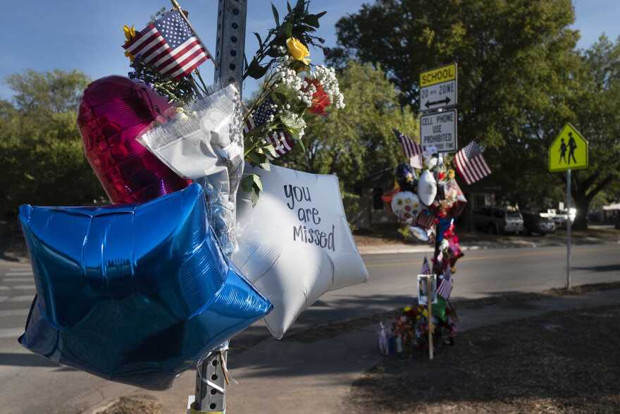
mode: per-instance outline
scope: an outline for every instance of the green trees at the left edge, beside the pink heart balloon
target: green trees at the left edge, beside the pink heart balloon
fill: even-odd
[[[79,71],[11,75],[13,102],[0,101],[0,214],[20,204],[82,205],[100,200],[77,130],[89,79]]]

